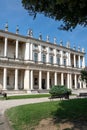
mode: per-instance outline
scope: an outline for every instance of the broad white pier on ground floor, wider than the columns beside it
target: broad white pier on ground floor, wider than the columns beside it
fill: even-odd
[[[24,73],[24,89],[29,90],[30,87],[30,70],[25,70]]]

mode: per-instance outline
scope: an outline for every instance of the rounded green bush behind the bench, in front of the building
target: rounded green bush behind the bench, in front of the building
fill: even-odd
[[[52,88],[50,89],[49,93],[52,96],[59,96],[59,95],[63,95],[68,93],[69,95],[71,94],[71,90],[68,89],[66,86],[64,85],[54,85],[52,86]]]

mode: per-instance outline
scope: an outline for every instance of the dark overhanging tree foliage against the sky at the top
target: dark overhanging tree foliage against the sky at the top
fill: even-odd
[[[87,26],[87,0],[22,0],[29,15],[42,13],[54,20],[62,20],[62,30],[74,29],[77,25]]]

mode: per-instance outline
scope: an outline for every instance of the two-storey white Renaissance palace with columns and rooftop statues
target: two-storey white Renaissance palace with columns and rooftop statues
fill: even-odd
[[[80,71],[85,68],[85,51],[63,42],[50,43],[49,36],[33,38],[32,30],[22,36],[0,30],[0,90],[28,92],[49,90],[52,85],[85,88]]]

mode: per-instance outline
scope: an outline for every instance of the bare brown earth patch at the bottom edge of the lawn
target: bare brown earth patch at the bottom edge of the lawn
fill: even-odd
[[[87,122],[62,121],[56,125],[54,119],[48,118],[41,120],[39,125],[31,130],[87,130]]]

